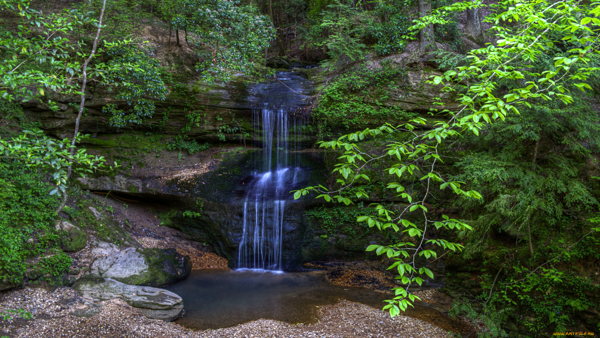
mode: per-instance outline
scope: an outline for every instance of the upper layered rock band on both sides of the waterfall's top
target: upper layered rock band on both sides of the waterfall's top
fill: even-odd
[[[411,61],[415,62],[409,63]],[[369,64],[371,68],[377,69],[382,67],[383,63],[391,64],[392,68],[406,70],[401,76],[401,81],[405,85],[387,88],[388,98],[378,102],[377,105],[423,113],[430,108],[440,108],[433,105],[433,102],[436,102],[435,98],[440,96],[442,85],[426,83],[430,76],[441,75],[439,70],[434,70],[424,62],[412,60],[404,54],[373,60]],[[250,124],[253,109],[262,108],[263,102],[275,100],[284,103],[290,112],[298,111],[299,108],[314,103],[320,90],[337,75],[320,67],[295,68],[293,72],[297,76],[306,78],[307,81],[282,86],[283,82],[272,76],[251,78],[243,74],[233,75],[231,81],[227,83],[209,84],[193,80],[185,86],[172,88],[166,100],[155,102],[156,112],[146,123],[128,124],[123,128],[110,126],[110,116],[104,114],[102,108],[111,103],[122,106],[125,104],[124,100],[115,99],[114,93],[104,87],[91,87],[86,92],[86,112],[80,121],[80,131],[82,134],[92,135],[91,140],[84,141],[88,144],[97,144],[93,137],[103,134],[110,136],[140,131],[178,135],[182,134],[182,129],[185,129],[185,135],[197,138],[199,141],[218,142],[219,136],[221,140],[225,138],[226,141],[240,141],[244,138],[244,132],[249,134],[255,132]],[[52,99],[59,103],[61,107],[59,111],[49,111],[43,103],[33,100],[25,104],[25,112],[33,120],[40,121],[45,131],[58,137],[71,137],[77,117],[79,97],[61,96]],[[451,111],[457,109],[454,97],[445,96],[441,102],[445,103],[443,109]],[[375,104],[375,102],[368,103]],[[365,120],[356,128],[376,125],[379,123],[374,120]],[[231,127],[237,129],[229,133],[226,130],[228,128],[223,128],[224,126],[229,127],[229,130],[232,129]],[[332,126],[332,128],[337,130],[339,127]],[[307,139],[314,140],[311,132],[307,130],[304,133],[307,134]],[[106,145],[102,144],[102,146]]]

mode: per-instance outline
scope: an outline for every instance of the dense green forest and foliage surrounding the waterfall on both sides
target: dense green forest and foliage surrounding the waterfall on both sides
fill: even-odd
[[[444,254],[452,314],[479,323],[481,336],[599,332],[598,4],[2,0],[0,8],[1,289],[40,278],[68,284],[65,252],[85,235],[55,223],[88,203],[73,177],[114,177],[159,152],[181,162],[250,139],[247,121],[197,108],[220,100],[211,86],[233,97],[274,69],[318,64],[305,69],[319,84],[311,105],[296,113],[310,120],[307,140],[326,149],[332,174],[296,197],[319,195],[323,206],[307,214],[332,233],[389,232],[368,250],[385,255],[401,281],[392,315],[413,301],[410,284],[433,277],[415,257]],[[389,104],[402,93],[427,100]],[[67,123],[47,118],[53,112]],[[136,146],[126,147],[130,156],[103,153],[80,121],[139,132],[128,141]],[[125,241],[101,225],[90,230]]]

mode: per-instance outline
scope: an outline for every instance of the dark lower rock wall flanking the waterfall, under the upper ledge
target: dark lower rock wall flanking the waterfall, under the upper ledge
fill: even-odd
[[[210,243],[218,254],[227,257],[233,264],[242,235],[246,188],[254,179],[255,161],[262,158],[262,150],[227,153],[214,170],[186,180],[118,175],[79,178],[79,182],[82,188],[91,191],[111,191],[127,195],[127,198],[172,206],[171,211],[160,215],[165,226],[181,230],[198,242]],[[319,153],[303,153],[299,158],[300,170],[295,188],[316,183],[328,174]],[[200,203],[202,207],[199,209]],[[302,260],[303,229],[307,226],[304,209],[312,203],[311,198],[293,201],[291,194],[287,198],[283,247],[286,261],[290,264],[297,265]],[[186,210],[197,210],[198,215],[184,216],[182,212]]]

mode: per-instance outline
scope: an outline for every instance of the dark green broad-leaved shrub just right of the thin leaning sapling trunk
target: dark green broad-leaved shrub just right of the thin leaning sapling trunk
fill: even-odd
[[[154,114],[154,102],[164,100],[167,95],[160,63],[149,57],[148,51],[133,46],[113,48],[108,54],[112,56],[109,65],[114,70],[106,74],[106,81],[117,85],[115,99],[124,99],[127,106],[119,108],[109,104],[102,111],[112,115],[110,124],[113,126],[142,124]]]

